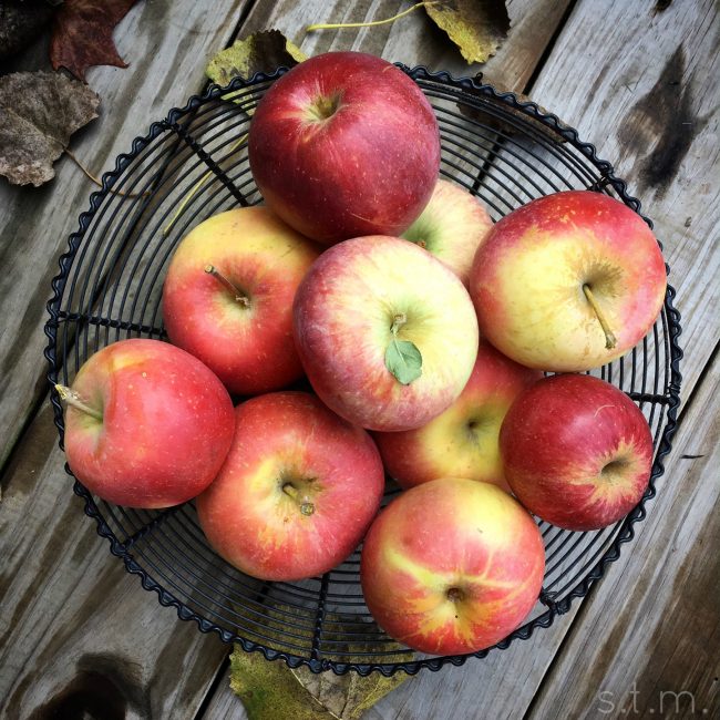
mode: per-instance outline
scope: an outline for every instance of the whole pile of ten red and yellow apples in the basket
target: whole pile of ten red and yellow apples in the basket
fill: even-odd
[[[363,542],[366,601],[390,636],[490,647],[538,598],[531,513],[599,528],[647,486],[645,418],[584,371],[655,322],[658,244],[586,191],[493,225],[438,179],[423,93],[367,54],[281,76],[248,144],[265,206],[178,245],[171,343],[111,344],[60,389],[69,465],[115,504],[196,498],[212,546],[258,578],[317,576]],[[312,392],[294,389],[304,377]],[[387,474],[403,492],[379,513]]]

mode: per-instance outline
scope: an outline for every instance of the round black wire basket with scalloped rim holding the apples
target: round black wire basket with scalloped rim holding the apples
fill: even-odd
[[[640,213],[640,203],[627,194],[611,165],[555,115],[475,80],[399,66],[435,110],[441,175],[480,197],[493,219],[535,197],[579,188],[606,193]],[[192,97],[136,138],[103,176],[52,282],[45,325],[52,384],[71,384],[83,362],[111,342],[166,338],[161,291],[179,240],[210,215],[261,202],[248,164],[247,132],[254,107],[284,72],[237,79]],[[619,556],[634,525],[645,517],[646,502],[664,473],[680,402],[680,316],[673,297],[668,287],[648,336],[594,372],[629,394],[650,424],[655,461],[645,496],[625,520],[597,532],[573,533],[539,522],[546,551],[543,590],[525,624],[495,648],[526,639],[566,613],[573,598],[586,595]],[[62,446],[63,413],[54,392],[52,403]],[[398,492],[392,482],[388,487],[385,502]],[[162,605],[175,607],[182,619],[226,642],[260,650],[269,660],[282,658],[291,667],[336,673],[415,673],[473,657],[414,654],[384,635],[362,598],[360,548],[322,577],[267,583],[243,575],[213,552],[192,502],[161,511],[130,510],[94,497],[79,482],[74,492],[111,552],[140,575],[143,587],[157,593]]]

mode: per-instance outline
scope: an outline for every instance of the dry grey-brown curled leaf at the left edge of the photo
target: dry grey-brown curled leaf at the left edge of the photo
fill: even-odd
[[[100,97],[59,72],[0,76],[0,175],[35,187],[54,177],[52,163],[70,136],[97,117]]]

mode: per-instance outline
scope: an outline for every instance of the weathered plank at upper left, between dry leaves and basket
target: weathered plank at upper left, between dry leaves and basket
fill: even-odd
[[[83,164],[99,175],[110,169],[151,122],[198,92],[206,59],[229,40],[249,1],[223,0],[212,13],[191,1],[137,3],[115,32],[130,66],[88,72],[101,106],[100,117],[72,141]],[[37,52],[23,55],[13,69],[34,69]],[[68,236],[78,228],[78,216],[96,189],[68,157],[55,169],[56,177],[37,189],[0,178],[0,465],[45,393],[42,327],[50,281]]]

